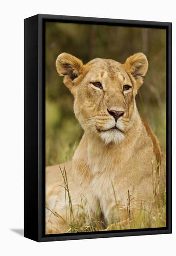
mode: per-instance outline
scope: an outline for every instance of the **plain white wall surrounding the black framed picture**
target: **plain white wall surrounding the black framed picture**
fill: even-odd
[[[4,250],[2,255],[175,255],[176,211],[173,216],[174,233],[169,235],[39,244],[23,238],[12,230],[23,228],[23,19],[37,13],[47,13],[173,22],[173,57],[175,57],[176,14],[174,2],[174,0],[1,1],[0,251]],[[176,61],[173,58],[173,70],[175,71],[175,69]],[[173,96],[176,96],[175,81],[174,72]],[[174,118],[176,101],[173,102],[173,105]],[[173,131],[176,128],[175,120],[174,118]],[[176,142],[175,134],[173,134],[173,139]],[[176,143],[173,143],[173,152],[174,149],[176,150]],[[175,164],[174,159],[173,162]],[[173,190],[175,192],[176,186],[173,186]]]

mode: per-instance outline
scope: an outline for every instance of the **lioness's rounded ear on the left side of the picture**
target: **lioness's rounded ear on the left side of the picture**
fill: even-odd
[[[83,72],[83,62],[71,54],[59,54],[56,60],[56,69],[60,76],[64,76],[64,83],[71,89],[73,80]]]

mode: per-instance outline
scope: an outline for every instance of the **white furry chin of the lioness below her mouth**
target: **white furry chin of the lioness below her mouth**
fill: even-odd
[[[105,144],[119,144],[121,141],[124,140],[124,134],[119,130],[101,131],[100,137]]]

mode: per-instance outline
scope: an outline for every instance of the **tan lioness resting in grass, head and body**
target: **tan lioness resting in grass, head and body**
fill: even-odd
[[[71,162],[46,168],[46,234],[64,233],[72,219],[81,221],[83,204],[89,220],[99,209],[107,225],[124,221],[127,205],[135,212],[165,187],[163,151],[135,101],[147,58],[137,53],[124,64],[96,58],[84,65],[62,53],[56,68],[85,133]]]

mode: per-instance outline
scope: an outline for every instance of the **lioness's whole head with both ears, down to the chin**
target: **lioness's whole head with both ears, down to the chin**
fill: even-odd
[[[83,65],[64,53],[56,67],[74,95],[74,112],[85,132],[100,136],[106,144],[122,141],[132,125],[135,95],[148,69],[145,55],[134,54],[124,64],[97,58]]]

